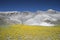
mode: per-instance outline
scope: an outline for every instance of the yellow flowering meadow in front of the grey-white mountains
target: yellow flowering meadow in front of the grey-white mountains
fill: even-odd
[[[60,40],[60,26],[8,25],[0,27],[0,40]]]

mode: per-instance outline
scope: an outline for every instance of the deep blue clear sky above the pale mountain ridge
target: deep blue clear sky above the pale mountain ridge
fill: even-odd
[[[59,0],[0,0],[0,11],[60,11]]]

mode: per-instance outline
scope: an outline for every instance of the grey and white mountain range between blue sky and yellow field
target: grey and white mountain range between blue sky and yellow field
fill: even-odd
[[[40,26],[55,26],[60,24],[60,12],[49,9],[47,11],[19,12],[7,11],[0,12],[1,24],[26,24]]]

